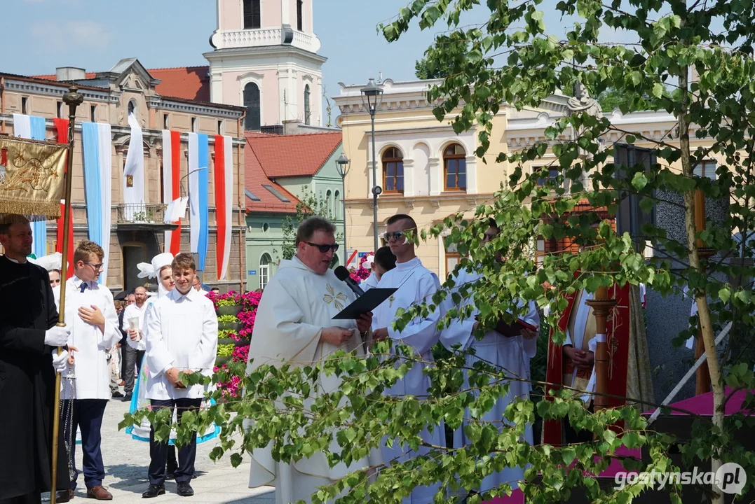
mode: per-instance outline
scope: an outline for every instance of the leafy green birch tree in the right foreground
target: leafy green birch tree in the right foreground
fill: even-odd
[[[222,443],[212,456],[230,452],[234,465],[241,463],[242,454],[273,442],[275,457],[280,460],[300,460],[319,451],[328,464],[335,466],[364,457],[384,438],[416,449],[421,445],[418,434],[423,429],[439,428],[442,423],[458,428],[467,411],[476,420],[466,428],[470,439],[467,446],[425,446],[427,454],[421,457],[402,463],[386,461],[387,465],[353,472],[320,489],[312,496],[316,503],[335,500],[336,496],[337,502],[343,503],[398,503],[414,487],[435,482],[442,484],[436,502],[455,502],[478,488],[486,475],[505,466],[529,464],[525,472],[527,502],[562,502],[579,489],[589,502],[624,504],[648,491],[653,482],[638,480],[620,489],[601,488],[592,476],[606,469],[622,446],[642,447],[649,454],[644,462],[625,460],[625,469],[673,471],[670,449],[676,445],[674,449],[683,454],[687,467],[704,467],[710,461],[715,471],[723,462],[735,462],[744,467],[745,474],[755,474],[755,457],[736,437],[741,435],[739,429],[752,429],[752,417],[725,419],[723,415],[724,384],[735,390],[755,388],[753,363],[741,355],[723,361],[713,340],[714,331],[728,322],[737,322],[750,336],[755,325],[750,283],[734,285],[723,280],[726,276],[752,278],[755,270],[716,259],[731,255],[735,247],[739,254],[751,255],[755,245],[751,239],[735,243],[729,231],[755,229],[755,5],[729,0],[691,5],[680,0],[547,2],[547,10],[577,21],[561,41],[547,31],[540,4],[539,0],[512,4],[489,0],[481,7],[479,2],[464,0],[415,0],[399,11],[392,23],[381,26],[388,41],[398,39],[414,23],[421,29],[442,26],[444,31],[436,35],[424,63],[429,72],[441,68],[445,72],[444,80],[428,93],[431,103],[439,103],[434,114],[439,121],[445,121],[448,115],[454,117],[451,125],[456,133],[476,128],[476,155],[488,154],[483,160],[489,160],[489,154],[494,154],[496,160],[480,169],[503,171],[508,167],[507,183],[492,200],[475,210],[473,218],[451,215],[442,226],[423,230],[416,239],[450,230],[448,240],[457,243],[458,252],[467,256],[461,260],[461,267],[479,270],[485,278],[455,292],[455,305],[475,295],[482,326],[492,326],[498,319],[513,322],[517,314],[505,310],[516,299],[549,306],[547,322],[555,327],[565,308],[565,294],[575,289],[595,292],[602,286],[646,283],[656,292],[669,295],[688,287],[698,308],[712,380],[712,422],[698,417],[691,438],[676,439],[646,428],[646,419],[639,411],[652,405],[630,403],[624,408],[590,413],[581,402],[569,399],[568,390],[560,390],[549,400],[538,402],[538,416],[586,429],[593,432],[594,440],[563,447],[532,447],[521,441],[525,424],[535,421],[532,400],[517,399],[510,404],[505,428],[500,422],[480,420],[495,399],[508,391],[503,370],[484,362],[467,369],[463,353],[451,353],[446,359],[429,363],[427,373],[432,385],[427,398],[384,397],[382,391],[419,358],[408,347],[399,346],[395,351],[404,356],[399,365],[396,356],[388,352],[389,344],[382,342],[369,356],[335,353],[317,366],[262,366],[251,376],[244,374],[244,366],[236,366],[229,372],[241,377],[244,395],[235,402],[218,402],[196,416],[184,415],[180,442],[186,442],[189,429],[214,420],[223,431]],[[487,8],[488,20],[470,25],[467,17],[472,8],[478,10],[477,15],[479,9]],[[599,35],[606,29],[633,35],[636,43],[602,43]],[[692,67],[699,75],[694,83],[689,79]],[[618,130],[595,110],[579,111],[586,96],[580,93],[574,97],[575,113],[548,127],[546,139],[518,151],[488,152],[492,121],[501,107],[540,108],[556,90],[573,89],[577,82],[589,90],[590,96],[616,90],[622,97],[622,111],[667,111],[676,119],[676,127],[661,140],[642,132]],[[601,141],[609,133],[619,133],[626,144],[639,141],[652,145],[658,163],[617,165],[612,158],[614,147]],[[712,147],[692,148],[691,135],[707,138]],[[535,173],[525,173],[524,167],[545,154],[553,154],[547,162],[559,170],[559,176],[541,186],[538,179],[547,179],[549,166]],[[716,179],[696,176],[695,166],[713,154],[720,160]],[[568,190],[565,181],[569,182]],[[606,222],[594,228],[595,212],[562,218],[584,202],[615,215],[618,205],[630,196],[648,211],[661,200],[661,191],[680,196],[685,234],[676,241],[667,237],[664,229],[645,225],[643,238],[661,252],[649,263],[636,252],[632,237],[616,234]],[[706,231],[696,227],[698,191],[710,198],[730,198],[725,222],[708,225]],[[501,234],[492,246],[482,246],[488,218],[495,218]],[[526,253],[538,237],[576,243],[599,240],[601,246],[575,254],[547,255],[538,265]],[[707,252],[704,249],[719,255],[705,260],[707,254],[701,254],[701,250]],[[497,251],[507,261],[495,261]],[[710,270],[716,275],[709,274]],[[555,289],[542,289],[541,284],[546,282]],[[453,283],[451,277],[446,289],[432,301],[399,313],[395,327],[401,330],[414,316],[433,310]],[[465,309],[448,313],[448,317],[469,315],[470,310]],[[565,334],[556,331],[553,338],[562,342]],[[323,373],[341,377],[343,385],[337,393],[313,393],[311,383]],[[228,377],[223,374],[216,379]],[[535,385],[542,387],[543,383]],[[749,393],[747,400],[751,402]],[[253,420],[253,425],[245,425],[246,420]],[[624,421],[624,430],[618,436],[609,426],[620,420]],[[332,441],[337,441],[337,450],[331,450]],[[752,487],[751,479],[745,490]],[[701,493],[695,502],[723,502],[720,489],[709,485],[705,490],[707,493]],[[472,495],[467,502],[480,502],[507,491],[510,487],[504,485]],[[682,502],[680,484],[671,482],[664,491],[671,502]]]

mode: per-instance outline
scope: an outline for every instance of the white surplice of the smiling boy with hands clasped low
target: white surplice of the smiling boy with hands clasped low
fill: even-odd
[[[217,355],[217,315],[212,301],[194,289],[186,295],[173,289],[149,304],[144,327],[144,359],[149,367],[147,399],[204,397],[204,385],[177,389],[168,381],[165,371],[190,369],[212,375]]]

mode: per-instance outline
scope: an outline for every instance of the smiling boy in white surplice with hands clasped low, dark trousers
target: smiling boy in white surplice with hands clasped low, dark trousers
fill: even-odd
[[[175,289],[149,306],[145,317],[146,397],[153,410],[177,408],[178,421],[185,411],[196,411],[205,397],[201,383],[185,386],[180,373],[211,376],[217,354],[217,315],[205,295],[192,287],[196,264],[190,254],[177,255],[172,264]],[[149,487],[145,499],[165,493],[165,465],[168,443],[157,442],[149,432]],[[178,451],[175,480],[180,496],[193,496],[190,481],[196,459],[196,432]]]

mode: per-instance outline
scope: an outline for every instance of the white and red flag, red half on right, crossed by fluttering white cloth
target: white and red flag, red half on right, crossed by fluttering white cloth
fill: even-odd
[[[162,203],[168,205],[165,209],[165,222],[178,222],[178,228],[165,231],[165,252],[178,255],[181,249],[181,221],[186,212],[186,203],[183,204],[183,212],[180,211],[174,200],[180,198],[181,179],[181,134],[177,131],[162,131]]]

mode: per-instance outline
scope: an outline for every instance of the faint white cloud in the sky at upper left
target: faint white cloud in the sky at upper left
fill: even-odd
[[[55,53],[62,53],[69,47],[101,52],[106,50],[113,38],[105,25],[91,20],[39,21],[29,26],[29,32],[41,47]]]

